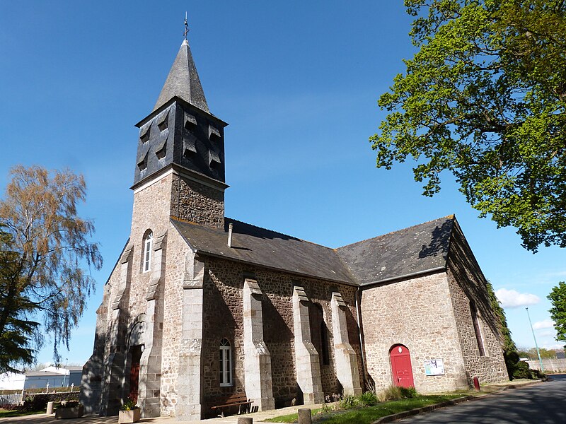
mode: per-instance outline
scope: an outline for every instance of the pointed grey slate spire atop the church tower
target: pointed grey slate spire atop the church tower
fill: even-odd
[[[185,102],[198,107],[204,112],[210,113],[187,40],[183,40],[177,57],[175,57],[167,80],[163,88],[161,88],[161,93],[154,106],[154,111],[158,110],[159,107],[165,105],[168,100],[171,100],[171,98],[175,96],[182,98]]]

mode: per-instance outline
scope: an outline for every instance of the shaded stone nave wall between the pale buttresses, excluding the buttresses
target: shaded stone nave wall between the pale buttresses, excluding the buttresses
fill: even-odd
[[[245,392],[243,375],[243,281],[244,273],[253,274],[262,291],[262,314],[264,341],[271,355],[272,387],[275,405],[289,406],[300,403],[301,393],[296,383],[294,358],[294,321],[292,295],[294,284],[305,288],[311,302],[323,308],[329,329],[329,345],[333,344],[330,300],[332,292],[338,291],[347,302],[347,324],[350,343],[358,353],[359,336],[354,319],[355,288],[308,278],[296,278],[291,274],[246,266],[221,259],[207,259],[204,274],[204,340],[203,378],[204,411],[222,396]],[[219,385],[219,342],[227,338],[233,348],[233,387]],[[333,350],[329,348],[330,363],[321,366],[325,394],[340,391],[337,381]],[[361,365],[360,365],[361,367]],[[359,375],[362,375],[360,372]]]

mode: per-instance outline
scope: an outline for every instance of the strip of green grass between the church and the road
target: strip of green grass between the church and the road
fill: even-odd
[[[430,396],[417,396],[412,399],[401,399],[399,401],[390,401],[377,404],[376,406],[367,406],[365,408],[353,408],[340,411],[330,411],[328,413],[317,413],[320,409],[314,410],[313,423],[325,424],[370,424],[381,417],[391,415],[393,413],[409,411],[413,408],[420,408],[440,402],[449,401],[461,397],[461,394],[440,394]],[[279,416],[270,418],[265,421],[269,423],[296,423],[297,414],[287,416]]]

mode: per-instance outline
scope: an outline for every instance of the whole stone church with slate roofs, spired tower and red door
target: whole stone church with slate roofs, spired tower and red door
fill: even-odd
[[[486,280],[454,216],[332,249],[224,216],[224,127],[185,40],[137,124],[129,239],[104,286],[86,411],[197,420],[391,384],[507,379]]]

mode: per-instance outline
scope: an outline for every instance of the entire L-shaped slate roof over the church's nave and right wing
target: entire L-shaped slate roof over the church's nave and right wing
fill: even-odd
[[[352,285],[444,268],[455,221],[447,216],[330,249],[230,218],[221,230],[171,218],[194,252]]]

